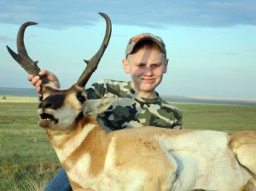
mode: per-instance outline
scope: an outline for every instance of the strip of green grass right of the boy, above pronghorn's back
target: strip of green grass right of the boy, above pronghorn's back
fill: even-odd
[[[184,129],[256,130],[256,107],[221,104],[175,104],[183,113]]]

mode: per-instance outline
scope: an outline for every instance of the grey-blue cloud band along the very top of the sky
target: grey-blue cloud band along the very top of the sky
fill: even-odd
[[[1,1],[0,22],[28,20],[40,26],[66,28],[94,25],[97,12],[108,14],[114,24],[131,26],[236,26],[256,25],[254,0],[73,0]]]

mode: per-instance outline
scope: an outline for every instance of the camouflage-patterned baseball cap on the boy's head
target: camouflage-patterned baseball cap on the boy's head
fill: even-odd
[[[136,46],[136,44],[138,42],[142,42],[143,40],[151,40],[154,43],[157,43],[160,46],[160,49],[162,49],[163,53],[166,55],[166,44],[164,43],[162,38],[157,37],[151,33],[141,33],[129,40],[126,50],[125,50],[126,58],[128,55],[131,54],[131,52],[134,49],[134,47]]]

